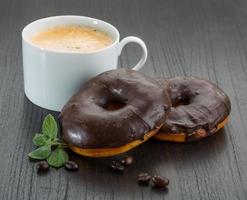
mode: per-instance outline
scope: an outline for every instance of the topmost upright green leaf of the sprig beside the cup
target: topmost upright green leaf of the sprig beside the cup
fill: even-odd
[[[54,119],[54,117],[49,114],[45,117],[44,122],[42,124],[42,133],[51,138],[54,139],[57,137],[57,122]]]

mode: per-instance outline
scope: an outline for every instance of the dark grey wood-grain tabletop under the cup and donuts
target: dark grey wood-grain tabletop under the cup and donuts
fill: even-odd
[[[23,92],[21,30],[38,18],[76,14],[106,20],[121,36],[136,35],[149,58],[150,76],[194,75],[230,96],[231,120],[219,134],[197,143],[154,140],[131,151],[123,174],[108,159],[71,153],[77,173],[36,174],[27,154],[33,134],[50,111]],[[132,66],[140,49],[129,45],[120,66]],[[55,116],[57,113],[52,112]],[[147,171],[171,180],[168,191],[140,187]],[[247,1],[245,0],[0,0],[0,199],[223,199],[247,197]]]

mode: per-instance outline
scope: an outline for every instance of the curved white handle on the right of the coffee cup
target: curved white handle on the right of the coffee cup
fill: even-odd
[[[132,70],[136,70],[137,71],[137,70],[141,69],[143,67],[143,65],[145,64],[145,62],[147,60],[147,56],[148,56],[148,51],[147,51],[146,44],[140,38],[134,37],[134,36],[129,36],[129,37],[126,37],[126,38],[124,38],[124,39],[122,39],[120,41],[120,43],[119,43],[119,54],[118,54],[119,56],[120,56],[120,54],[122,52],[123,47],[126,44],[130,43],[130,42],[135,42],[135,43],[139,44],[141,46],[141,48],[142,48],[142,51],[143,51],[141,59],[136,64],[136,66],[134,66],[132,68]]]

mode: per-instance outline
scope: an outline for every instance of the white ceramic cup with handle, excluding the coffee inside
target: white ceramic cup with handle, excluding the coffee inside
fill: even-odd
[[[106,32],[113,43],[92,53],[60,52],[35,46],[30,37],[43,29],[59,25],[82,25]],[[139,44],[142,57],[133,70],[140,69],[147,59],[145,43],[137,37],[119,42],[119,32],[102,20],[83,16],[54,16],[28,24],[22,31],[24,88],[34,104],[61,111],[69,98],[90,78],[104,71],[116,69],[123,47],[130,42]]]

